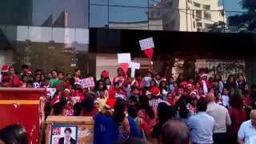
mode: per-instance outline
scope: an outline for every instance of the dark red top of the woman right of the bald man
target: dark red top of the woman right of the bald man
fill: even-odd
[[[238,134],[239,127],[241,126],[242,122],[246,121],[247,115],[245,109],[238,109],[231,107],[229,110],[230,119],[231,119],[231,126],[229,129],[230,134]]]

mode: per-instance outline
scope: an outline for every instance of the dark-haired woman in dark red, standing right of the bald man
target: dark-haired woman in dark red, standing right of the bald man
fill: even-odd
[[[242,98],[240,96],[234,96],[230,99],[231,108],[229,110],[231,126],[228,130],[228,139],[236,143],[238,139],[238,130],[242,122],[245,122],[247,119],[246,110],[243,108]],[[234,142],[233,142],[234,141]]]

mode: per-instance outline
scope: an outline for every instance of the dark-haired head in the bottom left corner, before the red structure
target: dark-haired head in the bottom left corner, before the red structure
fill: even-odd
[[[0,139],[6,144],[27,144],[27,134],[23,126],[11,125],[0,130]]]

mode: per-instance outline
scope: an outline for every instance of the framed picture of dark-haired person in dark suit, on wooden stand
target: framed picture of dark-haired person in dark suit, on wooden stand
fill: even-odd
[[[78,127],[67,125],[52,125],[50,130],[50,144],[76,144]]]

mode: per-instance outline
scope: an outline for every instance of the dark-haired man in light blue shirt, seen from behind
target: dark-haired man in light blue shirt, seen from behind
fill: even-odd
[[[207,103],[200,98],[197,103],[198,114],[191,116],[187,125],[190,128],[192,144],[213,144],[214,118],[206,114]]]

